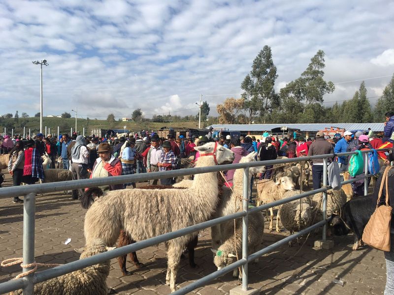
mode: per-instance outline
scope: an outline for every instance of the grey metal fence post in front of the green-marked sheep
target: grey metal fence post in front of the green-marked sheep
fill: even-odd
[[[243,210],[249,210],[249,168],[243,170]],[[242,217],[242,259],[248,258],[248,214]],[[248,290],[248,263],[242,266],[242,291]]]

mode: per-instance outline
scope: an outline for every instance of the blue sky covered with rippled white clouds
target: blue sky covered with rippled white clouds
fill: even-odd
[[[394,74],[394,2],[387,0],[1,0],[1,114],[77,108],[78,118],[198,113],[240,85],[264,45],[279,90],[319,49],[325,105],[352,98],[362,80],[371,105]],[[373,79],[370,79],[373,78]]]

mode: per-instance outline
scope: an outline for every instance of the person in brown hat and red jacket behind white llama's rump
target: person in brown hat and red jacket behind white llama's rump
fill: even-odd
[[[122,175],[122,164],[120,158],[115,158],[111,153],[111,146],[108,143],[101,143],[97,150],[99,158],[93,165],[90,178],[112,177]],[[123,189],[123,184],[100,186],[103,191]]]

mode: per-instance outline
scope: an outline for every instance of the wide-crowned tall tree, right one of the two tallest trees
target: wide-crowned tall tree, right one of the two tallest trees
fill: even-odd
[[[282,100],[285,96],[292,96],[296,103],[302,103],[303,113],[309,104],[322,103],[324,94],[332,93],[335,89],[332,82],[326,82],[323,79],[323,69],[326,66],[324,55],[324,51],[319,50],[301,77],[281,89]]]

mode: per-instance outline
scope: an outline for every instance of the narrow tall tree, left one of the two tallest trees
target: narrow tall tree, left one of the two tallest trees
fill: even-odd
[[[248,112],[249,124],[258,112],[265,123],[266,113],[271,113],[272,108],[279,106],[279,97],[274,90],[276,78],[278,75],[271,48],[265,45],[253,60],[252,70],[241,84],[241,89],[245,90],[242,97],[245,99],[244,108]]]

